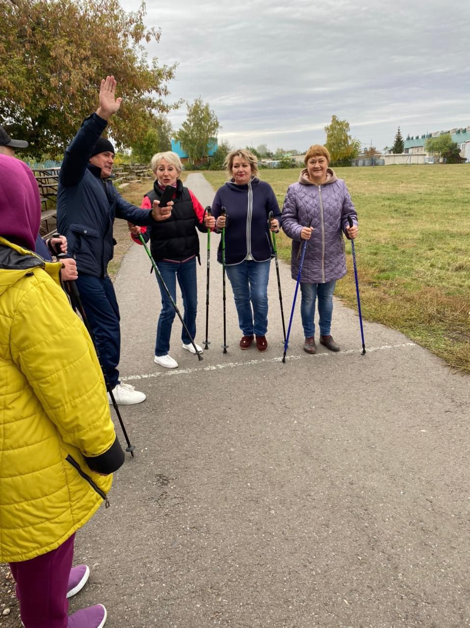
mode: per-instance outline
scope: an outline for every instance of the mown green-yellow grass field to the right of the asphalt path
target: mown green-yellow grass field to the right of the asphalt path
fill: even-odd
[[[261,170],[280,207],[300,170]],[[356,239],[363,317],[400,330],[470,373],[470,165],[337,168],[359,216]],[[214,189],[221,172],[204,172]],[[280,257],[290,240],[278,237]],[[349,273],[335,294],[352,307]],[[367,338],[366,338],[367,346]]]

